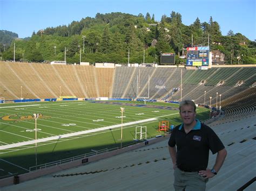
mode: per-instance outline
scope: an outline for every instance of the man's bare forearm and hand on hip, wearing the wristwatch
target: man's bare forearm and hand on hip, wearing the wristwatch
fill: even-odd
[[[227,156],[227,151],[225,148],[223,150],[220,150],[217,154],[215,164],[213,166],[214,170],[216,172],[219,172],[221,166],[224,163],[224,160]],[[211,169],[207,168],[206,171],[199,171],[199,174],[203,176],[204,178],[212,178],[214,174],[211,172]]]

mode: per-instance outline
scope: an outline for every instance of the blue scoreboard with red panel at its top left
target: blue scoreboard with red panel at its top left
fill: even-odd
[[[209,51],[208,46],[187,47],[187,66],[208,66]]]

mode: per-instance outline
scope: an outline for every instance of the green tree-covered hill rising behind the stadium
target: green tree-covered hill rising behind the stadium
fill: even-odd
[[[182,16],[172,11],[163,15],[160,21],[154,15],[141,13],[138,16],[112,12],[97,13],[95,18],[82,18],[68,26],[47,27],[33,33],[29,40],[15,39],[16,60],[52,61],[64,60],[83,62],[142,63],[145,49],[145,63],[160,61],[160,52],[176,53],[176,63],[183,49],[194,46],[207,46],[208,37],[211,50],[225,54],[225,63],[256,63],[256,43],[240,33],[221,34],[220,26],[212,17],[206,22],[197,18],[186,26]],[[3,46],[2,46],[3,47]],[[13,46],[2,52],[4,60],[13,59]],[[0,45],[1,49],[1,45]],[[65,54],[66,49],[66,54]],[[3,50],[3,48],[1,49]]]

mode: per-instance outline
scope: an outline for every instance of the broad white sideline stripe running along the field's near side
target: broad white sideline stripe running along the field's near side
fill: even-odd
[[[149,122],[149,121],[154,121],[156,119],[157,118],[150,118],[150,119],[144,119],[144,120],[141,120],[141,121],[124,123],[123,126],[133,125],[133,124],[143,123],[143,122]],[[43,138],[43,139],[37,139],[37,143],[47,142],[49,140],[56,140],[56,139],[60,139],[60,138],[67,138],[67,137],[72,137],[72,136],[77,136],[77,135],[83,135],[83,134],[97,132],[97,131],[103,131],[103,130],[107,130],[107,129],[120,128],[120,126],[121,126],[121,124],[117,124],[117,125],[112,125],[112,126],[105,126],[104,128],[91,129],[91,130],[85,130],[85,131],[78,131],[78,132],[68,133],[68,134],[61,135],[61,136],[53,136],[53,137],[47,137],[47,138]],[[4,150],[6,148],[13,148],[13,147],[24,146],[24,145],[31,145],[31,144],[35,144],[35,143],[36,143],[36,140],[29,140],[28,142],[3,145],[3,146],[0,146],[0,150]]]

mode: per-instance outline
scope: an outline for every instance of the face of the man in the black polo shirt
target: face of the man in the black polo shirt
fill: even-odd
[[[196,118],[196,111],[192,105],[183,105],[180,108],[180,117],[183,120],[183,123],[188,126],[191,125]]]

